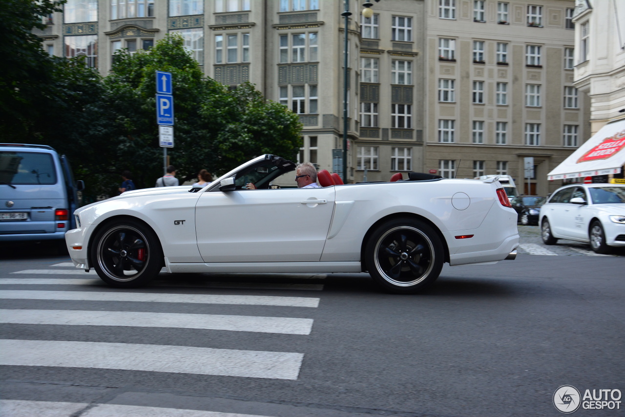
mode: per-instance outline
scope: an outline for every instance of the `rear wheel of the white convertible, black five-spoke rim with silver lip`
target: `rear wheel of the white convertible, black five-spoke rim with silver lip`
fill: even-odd
[[[419,220],[400,218],[379,225],[365,248],[373,280],[394,294],[414,294],[441,273],[444,250],[439,235]]]

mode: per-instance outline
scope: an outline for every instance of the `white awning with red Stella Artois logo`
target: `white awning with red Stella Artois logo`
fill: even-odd
[[[603,126],[571,156],[547,174],[549,180],[607,175],[625,164],[625,119]]]

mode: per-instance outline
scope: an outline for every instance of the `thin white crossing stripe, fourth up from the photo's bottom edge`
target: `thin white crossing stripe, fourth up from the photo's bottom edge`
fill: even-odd
[[[150,294],[147,292],[95,291],[18,291],[2,290],[0,299],[184,302],[194,304],[241,304],[248,306],[318,307],[312,297],[226,296],[213,294]]]

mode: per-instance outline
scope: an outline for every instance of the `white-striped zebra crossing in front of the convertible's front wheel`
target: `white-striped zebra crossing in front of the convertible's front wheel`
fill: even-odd
[[[76,272],[86,278],[76,278]],[[29,275],[29,276],[23,276]],[[39,275],[39,277],[32,277]],[[220,348],[191,346],[171,346],[168,344],[141,344],[136,340],[115,341],[80,341],[80,326],[97,326],[107,329],[121,327],[141,327],[148,331],[171,329],[200,329],[202,331],[250,332],[264,337],[262,334],[281,334],[286,337],[309,336],[312,331],[313,319],[306,318],[306,312],[319,307],[318,297],[280,295],[280,290],[297,290],[303,292],[322,291],[323,284],[309,284],[307,281],[319,282],[325,275],[282,275],[270,282],[269,275],[263,282],[241,281],[249,276],[234,275],[231,281],[208,282],[175,282],[167,280],[162,274],[160,281],[144,289],[108,289],[103,282],[92,274],[74,269],[73,264],[62,262],[49,265],[43,269],[26,269],[12,272],[8,277],[0,278],[0,299],[5,308],[0,309],[0,324],[28,324],[35,326],[68,326],[63,327],[63,340],[32,340],[0,338],[0,365],[29,367],[63,367],[82,369],[111,369],[123,371],[150,371],[172,374],[199,374],[207,376],[231,376],[236,378],[262,378],[277,380],[296,380],[304,359],[304,352],[291,352],[288,344],[284,351],[256,351],[236,349],[237,346]],[[23,276],[23,277],[22,277]],[[220,275],[220,279],[222,276]],[[257,278],[256,276],[254,277]],[[295,282],[292,282],[295,281]],[[8,287],[10,286],[10,287]],[[36,286],[36,287],[34,287]],[[159,291],[154,291],[155,288]],[[167,287],[165,289],[165,287]],[[195,287],[197,291],[188,294],[176,292],[178,288]],[[32,288],[32,289],[31,289]],[[234,294],[222,294],[212,289],[234,289]],[[238,289],[263,289],[276,291],[274,294],[242,295],[236,294]],[[143,291],[142,291],[143,290]],[[249,291],[246,292],[249,294]],[[284,293],[283,293],[284,294]],[[32,301],[33,308],[6,308],[6,302],[20,300]],[[81,302],[81,309],[74,309],[76,304],[68,304],[68,309],[46,309],[35,302],[68,301]],[[120,303],[122,302],[122,303]],[[97,303],[97,304],[90,304]],[[104,303],[104,304],[103,304]],[[166,304],[168,312],[146,312],[141,306],[146,303]],[[69,307],[69,306],[74,307]],[[163,306],[163,304],[159,304]],[[259,315],[235,314],[196,314],[181,312],[182,306],[212,306],[211,313],[219,306],[245,306],[249,309],[266,307],[277,309],[276,317]],[[9,304],[10,306],[10,304]],[[56,304],[58,306],[58,304]],[[92,307],[93,306],[93,307]],[[109,306],[108,308],[102,308]],[[39,307],[39,308],[37,308]],[[298,316],[281,317],[281,307],[301,309]],[[90,310],[89,308],[93,308]],[[121,309],[121,311],[120,311]],[[138,311],[133,311],[134,309]],[[178,311],[176,311],[178,309]],[[188,311],[183,309],[184,311]],[[229,312],[232,312],[231,310]],[[68,336],[74,334],[76,337]],[[151,330],[150,330],[151,329]],[[73,340],[76,339],[76,340]],[[182,342],[182,345],[185,343]],[[68,354],[71,353],[71,354]],[[86,409],[86,407],[88,409]],[[146,406],[128,406],[118,404],[81,404],[51,401],[2,400],[2,415],[31,416],[51,415],[69,416],[76,410],[83,410],[81,416],[197,416],[197,417],[254,417],[252,414],[221,413],[216,411],[197,411],[183,409],[166,409]],[[49,413],[39,414],[38,408],[46,408]],[[57,410],[58,413],[53,412]],[[86,411],[84,411],[86,410]]]

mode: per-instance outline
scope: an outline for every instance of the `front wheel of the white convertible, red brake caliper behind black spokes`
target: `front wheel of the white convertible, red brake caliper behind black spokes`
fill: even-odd
[[[112,287],[133,288],[152,281],[163,267],[163,249],[152,229],[132,219],[113,221],[91,242],[91,262]]]

